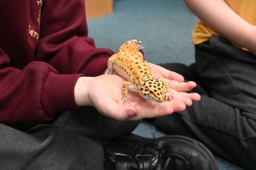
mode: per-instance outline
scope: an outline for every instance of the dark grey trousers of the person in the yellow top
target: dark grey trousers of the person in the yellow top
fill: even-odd
[[[155,126],[198,139],[227,160],[255,169],[256,56],[212,36],[196,45],[196,69],[191,68],[181,72],[198,83],[194,92],[201,94],[201,101],[183,112],[156,118]]]

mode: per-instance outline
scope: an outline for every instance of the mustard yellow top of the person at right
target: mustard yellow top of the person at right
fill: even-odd
[[[244,18],[251,25],[256,26],[256,1],[255,0],[224,0],[228,6]],[[207,41],[211,35],[220,35],[199,20],[193,31],[193,43],[200,44]],[[246,49],[244,49],[246,50]]]

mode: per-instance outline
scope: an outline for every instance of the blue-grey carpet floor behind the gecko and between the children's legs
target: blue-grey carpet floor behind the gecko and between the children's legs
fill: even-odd
[[[195,61],[191,32],[198,18],[182,0],[115,0],[114,13],[88,21],[89,36],[97,47],[117,52],[127,40],[139,39],[146,50],[146,60],[155,64]],[[153,125],[143,121],[133,132],[144,137],[163,136]],[[221,170],[241,168],[216,155]]]

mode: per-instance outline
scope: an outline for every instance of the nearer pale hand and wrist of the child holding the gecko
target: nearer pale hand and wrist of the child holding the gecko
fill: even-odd
[[[174,79],[177,78],[177,74],[173,76]],[[178,77],[180,76],[178,75]],[[81,77],[75,87],[77,104],[79,106],[94,106],[101,114],[118,120],[137,120],[183,111],[193,101],[200,100],[199,94],[184,92],[189,90],[189,83],[172,80],[167,82],[170,85],[170,90],[175,93],[175,99],[172,101],[156,103],[144,100],[139,93],[130,91],[129,95],[131,95],[132,101],[125,103],[121,99],[123,81],[125,80],[122,77],[116,75],[102,75],[95,78]]]

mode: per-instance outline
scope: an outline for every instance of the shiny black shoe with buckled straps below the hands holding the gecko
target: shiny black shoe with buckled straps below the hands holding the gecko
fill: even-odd
[[[199,141],[178,135],[117,137],[104,145],[105,169],[219,169],[212,153]]]

